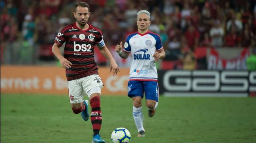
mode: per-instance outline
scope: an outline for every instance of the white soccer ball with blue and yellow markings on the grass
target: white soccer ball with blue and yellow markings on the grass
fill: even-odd
[[[125,128],[116,128],[111,134],[112,143],[128,143],[131,140],[131,133]]]

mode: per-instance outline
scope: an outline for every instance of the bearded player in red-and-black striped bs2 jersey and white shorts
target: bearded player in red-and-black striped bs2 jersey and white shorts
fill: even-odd
[[[94,60],[95,45],[98,46],[101,54],[110,61],[110,72],[113,70],[113,74],[117,74],[119,67],[104,43],[103,33],[88,23],[89,5],[85,2],[77,3],[73,14],[76,22],[65,26],[57,34],[52,52],[66,69],[69,99],[73,112],[75,114],[81,113],[85,121],[90,116],[94,133],[93,143],[105,143],[99,135],[102,124],[100,94],[104,84],[98,74],[98,66]],[[64,42],[63,57],[59,48]],[[88,111],[88,100],[83,101],[85,94],[90,100],[91,115]]]

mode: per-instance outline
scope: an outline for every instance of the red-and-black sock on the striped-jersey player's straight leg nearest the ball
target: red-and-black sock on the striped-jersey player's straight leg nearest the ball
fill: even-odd
[[[99,134],[99,131],[101,130],[102,122],[100,97],[93,97],[90,100],[90,104],[92,107],[91,122],[93,126],[93,135],[96,135]]]

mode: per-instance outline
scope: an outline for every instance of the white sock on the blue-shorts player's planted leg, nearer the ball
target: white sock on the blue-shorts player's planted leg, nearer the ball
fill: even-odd
[[[143,114],[142,114],[142,107],[136,108],[133,107],[132,115],[135,122],[135,125],[138,129],[138,132],[145,129],[143,128]]]

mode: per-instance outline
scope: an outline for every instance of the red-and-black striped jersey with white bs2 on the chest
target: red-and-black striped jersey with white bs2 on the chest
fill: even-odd
[[[89,24],[89,23],[88,23]],[[105,46],[102,32],[89,24],[86,30],[79,29],[76,23],[65,26],[54,40],[59,46],[65,43],[64,58],[72,63],[66,69],[67,81],[98,74],[94,60],[94,47]]]

